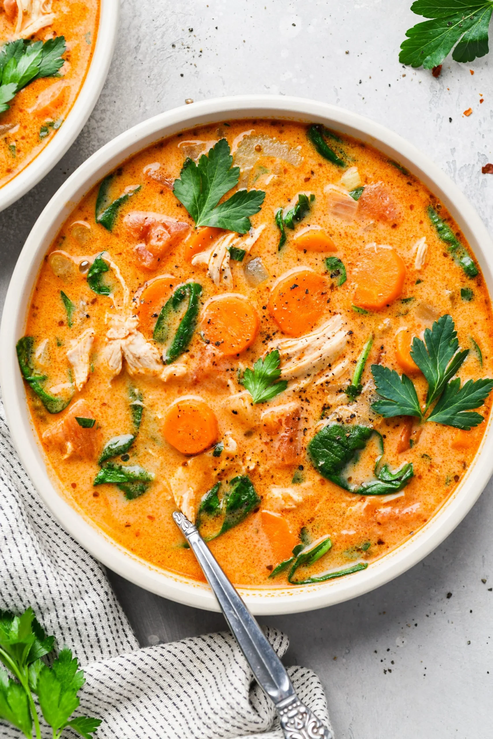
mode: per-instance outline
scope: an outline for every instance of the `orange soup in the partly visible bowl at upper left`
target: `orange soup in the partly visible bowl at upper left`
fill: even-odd
[[[0,112],[0,187],[32,162],[67,120],[89,69],[98,22],[98,0],[4,0],[0,4],[4,49],[18,39],[35,43],[63,36],[66,44],[61,69],[35,78],[17,92],[8,110]]]

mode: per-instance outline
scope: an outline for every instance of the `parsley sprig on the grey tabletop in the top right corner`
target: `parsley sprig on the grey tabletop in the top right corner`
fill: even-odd
[[[406,32],[399,61],[412,67],[438,67],[452,51],[455,61],[473,61],[489,52],[491,0],[416,0],[411,10],[429,21]]]

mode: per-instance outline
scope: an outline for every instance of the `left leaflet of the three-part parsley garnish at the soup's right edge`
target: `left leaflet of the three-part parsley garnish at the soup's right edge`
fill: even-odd
[[[412,415],[422,418],[421,406],[416,395],[415,386],[407,375],[399,377],[395,369],[382,367],[381,364],[372,364],[372,374],[378,395],[381,400],[372,403],[372,409],[392,418],[396,415]]]

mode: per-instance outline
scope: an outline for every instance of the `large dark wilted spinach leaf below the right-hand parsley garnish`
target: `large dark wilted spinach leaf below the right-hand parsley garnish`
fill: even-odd
[[[378,436],[381,450],[381,454],[375,461],[376,480],[363,483],[359,487],[351,486],[341,473],[353,460],[356,452],[365,448],[373,434]],[[307,454],[322,477],[326,477],[327,480],[336,483],[350,493],[359,495],[387,495],[398,492],[407,486],[413,476],[412,464],[405,464],[394,473],[390,472],[387,465],[378,471],[378,463],[384,454],[384,441],[378,432],[368,426],[344,426],[339,423],[330,423],[310,440]]]

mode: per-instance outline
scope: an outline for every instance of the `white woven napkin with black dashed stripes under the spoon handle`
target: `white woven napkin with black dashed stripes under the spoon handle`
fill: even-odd
[[[58,648],[77,655],[86,684],[76,713],[103,719],[98,739],[282,737],[231,634],[139,649],[101,565],[55,521],[22,469],[0,397],[0,609],[28,606]],[[268,638],[279,655],[288,649],[284,634],[269,629]],[[304,667],[288,672],[328,723],[319,678]],[[21,736],[0,721],[0,738]]]

